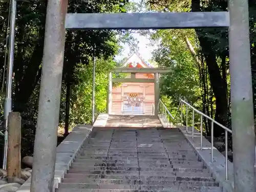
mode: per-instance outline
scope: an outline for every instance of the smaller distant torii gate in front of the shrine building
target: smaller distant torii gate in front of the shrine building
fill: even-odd
[[[112,72],[109,73],[109,89],[106,100],[107,113],[111,113],[112,108],[112,88],[113,82],[154,82],[154,90],[155,90],[155,110],[154,115],[157,116],[158,110],[158,101],[160,97],[160,87],[159,87],[159,74],[160,73],[169,73],[171,72],[170,68],[115,68]],[[143,74],[154,74],[154,79],[142,79],[136,78],[135,75],[131,75],[131,78],[112,78],[112,73],[143,73]]]

